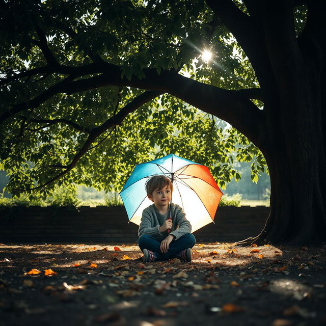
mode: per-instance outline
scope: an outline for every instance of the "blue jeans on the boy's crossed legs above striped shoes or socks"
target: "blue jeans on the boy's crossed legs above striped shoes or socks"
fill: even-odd
[[[195,246],[196,239],[191,233],[187,233],[181,236],[178,240],[173,240],[169,244],[168,252],[161,253],[159,250],[160,241],[157,241],[153,236],[143,234],[138,240],[138,246],[143,251],[144,249],[154,252],[159,260],[167,260],[175,257],[180,251],[187,248],[193,248]]]

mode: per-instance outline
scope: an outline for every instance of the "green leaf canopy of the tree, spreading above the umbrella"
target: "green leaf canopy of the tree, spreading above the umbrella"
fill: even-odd
[[[12,194],[36,188],[31,197],[46,196],[71,182],[119,190],[135,164],[169,153],[209,166],[221,186],[240,178],[234,158],[254,157],[253,181],[266,169],[240,127],[178,93],[193,92],[187,80],[222,91],[259,88],[206,2],[10,1],[0,17],[0,167]],[[297,11],[297,29],[304,19]],[[204,49],[212,62],[201,59]],[[261,109],[259,95],[248,101]]]

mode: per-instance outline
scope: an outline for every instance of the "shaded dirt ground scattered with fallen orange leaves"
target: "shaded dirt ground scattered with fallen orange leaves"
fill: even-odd
[[[326,325],[325,244],[141,256],[127,243],[0,243],[0,326]]]

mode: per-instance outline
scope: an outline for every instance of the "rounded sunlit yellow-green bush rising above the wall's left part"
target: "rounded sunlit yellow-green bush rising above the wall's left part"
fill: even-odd
[[[56,186],[49,200],[55,207],[77,207],[80,201],[77,198],[76,188],[73,185]]]

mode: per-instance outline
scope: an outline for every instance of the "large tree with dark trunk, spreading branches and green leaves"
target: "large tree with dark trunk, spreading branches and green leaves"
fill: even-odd
[[[254,172],[265,158],[270,173],[270,215],[252,240],[324,240],[325,10],[323,0],[3,1],[8,189],[121,184],[135,162],[170,151],[210,162],[223,184],[238,178],[227,164],[238,142],[240,160],[255,152]]]

